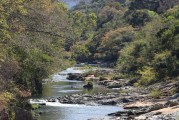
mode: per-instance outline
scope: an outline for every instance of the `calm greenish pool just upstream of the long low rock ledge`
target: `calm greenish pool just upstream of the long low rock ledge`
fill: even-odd
[[[110,92],[110,89],[94,85],[93,89],[83,89],[84,82],[68,82],[61,81],[57,83],[45,84],[43,86],[43,95],[40,97],[49,98],[49,97],[59,97],[64,95],[70,95],[74,93],[85,93],[85,94],[94,94],[97,92]]]

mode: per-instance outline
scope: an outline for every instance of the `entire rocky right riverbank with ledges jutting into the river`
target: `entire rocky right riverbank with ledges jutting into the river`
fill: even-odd
[[[114,72],[114,71],[112,71]],[[111,71],[102,71],[110,75]],[[70,74],[71,75],[71,74]],[[117,89],[114,93],[97,93],[94,95],[74,94],[59,97],[59,102],[86,105],[120,105],[124,111],[108,114],[111,119],[135,120],[176,120],[179,117],[178,82],[160,82],[145,87],[133,86],[135,80],[109,79],[94,75],[79,75],[74,79],[91,80],[106,88]],[[73,79],[72,79],[73,80]]]

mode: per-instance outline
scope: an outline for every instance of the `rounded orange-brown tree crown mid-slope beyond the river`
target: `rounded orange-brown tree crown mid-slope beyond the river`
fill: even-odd
[[[99,52],[102,54],[100,59],[115,62],[119,57],[119,52],[126,42],[132,41],[133,29],[130,26],[111,30],[102,38]]]

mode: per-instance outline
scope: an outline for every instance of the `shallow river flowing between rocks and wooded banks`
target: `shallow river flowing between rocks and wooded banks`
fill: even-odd
[[[78,67],[68,68],[65,71],[52,75],[54,83],[43,85],[43,94],[38,99],[57,98],[74,93],[93,94],[97,92],[110,92],[110,90],[94,85],[93,90],[83,89],[84,82],[69,81],[68,73],[81,73]],[[122,110],[118,106],[86,106],[74,104],[61,104],[59,102],[46,102],[36,112],[41,112],[40,120],[88,120],[91,118],[108,118],[106,115]]]

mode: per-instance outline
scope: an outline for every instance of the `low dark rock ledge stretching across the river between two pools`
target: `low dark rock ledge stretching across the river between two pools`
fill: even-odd
[[[97,104],[97,105],[123,105],[126,103],[131,103],[139,100],[146,100],[149,97],[144,95],[144,93],[133,93],[137,89],[128,88],[131,90],[126,90],[124,88],[123,92],[111,92],[111,93],[96,93],[96,94],[72,94],[58,97],[58,102],[66,104]],[[122,90],[122,88],[121,88]],[[120,91],[120,90],[119,90]],[[48,99],[49,102],[55,101],[54,99]]]

